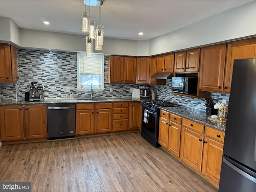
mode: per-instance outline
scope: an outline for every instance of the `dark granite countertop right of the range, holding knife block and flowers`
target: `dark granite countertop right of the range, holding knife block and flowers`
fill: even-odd
[[[198,123],[202,123],[204,125],[209,125],[210,127],[214,127],[216,129],[225,131],[226,123],[211,121],[208,119],[209,115],[206,115],[206,112],[195,110],[192,108],[188,108],[185,106],[179,107],[161,107],[160,109],[171,112],[175,115],[181,116],[183,118],[187,118],[189,120],[196,121]]]

